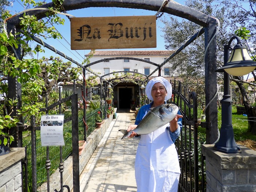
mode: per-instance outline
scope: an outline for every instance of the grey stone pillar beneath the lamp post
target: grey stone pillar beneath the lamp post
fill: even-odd
[[[240,146],[242,153],[216,151],[214,144],[202,146],[206,156],[206,192],[255,192],[256,151]]]

